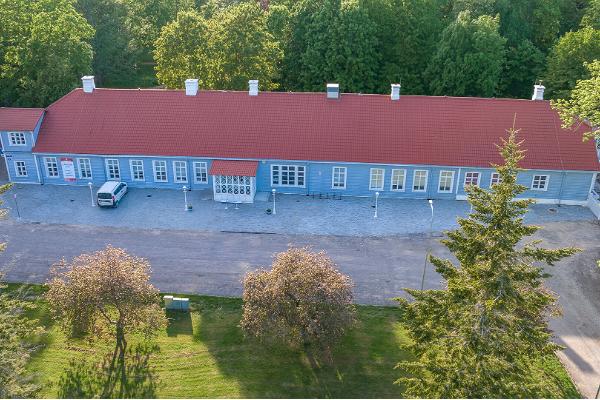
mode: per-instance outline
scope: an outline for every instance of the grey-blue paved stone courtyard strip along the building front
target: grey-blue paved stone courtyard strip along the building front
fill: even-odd
[[[214,202],[208,191],[189,192],[193,211],[185,211],[180,191],[130,189],[118,208],[105,209],[92,206],[87,187],[15,185],[4,200],[20,221],[50,224],[342,236],[429,231],[431,210],[426,200],[380,199],[374,218],[374,199],[277,195],[276,215],[268,215],[272,200],[267,194],[257,195],[261,197],[263,201],[236,206]],[[433,230],[455,228],[456,217],[466,215],[469,207],[465,201],[434,201]],[[526,215],[532,224],[582,220],[594,220],[594,215],[580,206],[534,205]]]

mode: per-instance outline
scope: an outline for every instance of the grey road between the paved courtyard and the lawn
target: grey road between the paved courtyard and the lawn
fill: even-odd
[[[289,244],[326,250],[340,270],[352,277],[356,300],[393,304],[403,287],[418,288],[425,254],[448,256],[438,243],[422,234],[386,237],[273,235],[175,230],[138,230],[77,225],[0,222],[1,241],[8,249],[0,265],[8,279],[45,281],[51,263],[100,249],[106,244],[124,247],[146,257],[153,282],[163,291],[224,296],[241,294],[248,270],[268,266],[273,253]],[[597,222],[554,222],[544,225],[537,238],[548,247],[574,245],[584,251],[552,268],[550,286],[560,295],[564,315],[551,322],[559,343],[567,349],[561,360],[586,397],[600,384],[600,227]],[[428,266],[426,287],[440,286]]]

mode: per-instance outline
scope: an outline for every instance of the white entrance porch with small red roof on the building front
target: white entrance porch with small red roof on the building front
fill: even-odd
[[[257,161],[213,161],[210,175],[213,176],[214,200],[222,203],[253,203],[257,168]]]

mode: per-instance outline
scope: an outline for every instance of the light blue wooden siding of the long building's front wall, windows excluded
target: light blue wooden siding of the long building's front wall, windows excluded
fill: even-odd
[[[37,169],[31,153],[27,152],[9,152],[10,160],[9,172],[11,179],[15,182],[38,182]],[[44,165],[45,157],[56,157],[58,162],[59,176],[51,178],[47,176]],[[67,182],[62,175],[60,165],[61,157],[73,158],[77,179],[74,182]],[[92,179],[94,186],[99,186],[107,179],[105,161],[107,159],[119,160],[119,169],[121,180],[127,182],[131,187],[140,188],[165,188],[181,189],[184,185],[192,189],[212,189],[212,177],[208,176],[207,183],[194,182],[194,165],[197,162],[206,162],[207,171],[210,170],[211,160],[203,158],[167,158],[167,157],[111,157],[111,156],[86,156],[86,155],[61,155],[61,154],[38,154],[39,170],[41,172],[41,181],[45,184],[63,184],[63,185],[87,185],[90,179],[80,179],[79,158],[88,158],[92,168]],[[29,176],[27,178],[15,178],[14,160],[24,160],[27,163]],[[144,180],[134,181],[131,176],[130,160],[141,160],[144,165]],[[155,182],[153,161],[159,160],[166,162],[167,182]],[[186,183],[175,183],[173,162],[185,161],[187,163],[188,181]],[[271,185],[271,166],[272,165],[295,165],[304,166],[305,184],[304,187],[293,186],[273,186]],[[346,188],[332,187],[332,174],[334,167],[346,168]],[[378,164],[359,164],[359,163],[315,163],[299,161],[280,161],[264,160],[259,161],[256,175],[256,187],[258,192],[271,191],[277,189],[279,193],[311,194],[336,193],[342,196],[363,196],[370,197],[375,195],[376,190],[369,189],[370,173],[372,168],[380,168],[384,171],[383,189],[377,190],[381,197],[388,198],[411,198],[411,199],[454,199],[456,196],[464,196],[464,180],[467,172],[480,173],[480,186],[490,187],[491,175],[494,172],[491,168],[458,168],[458,167],[437,167],[437,166],[401,166],[401,165],[378,165]],[[394,169],[405,171],[405,185],[403,191],[392,191],[392,171]],[[416,170],[428,171],[427,185],[425,191],[413,190],[413,179]],[[439,179],[442,171],[454,172],[451,192],[439,192]],[[534,175],[548,175],[548,189],[545,191],[531,190],[531,184]],[[562,199],[573,201],[585,201],[587,199],[590,184],[593,177],[592,172],[574,172],[574,171],[523,171],[519,174],[518,182],[525,185],[528,190],[522,195],[536,199]]]

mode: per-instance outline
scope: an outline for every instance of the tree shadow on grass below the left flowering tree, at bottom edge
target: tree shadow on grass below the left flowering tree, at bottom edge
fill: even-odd
[[[123,362],[111,367],[113,354],[100,363],[71,360],[58,382],[60,398],[155,398],[157,379],[150,356],[157,346],[139,344],[129,349]]]

